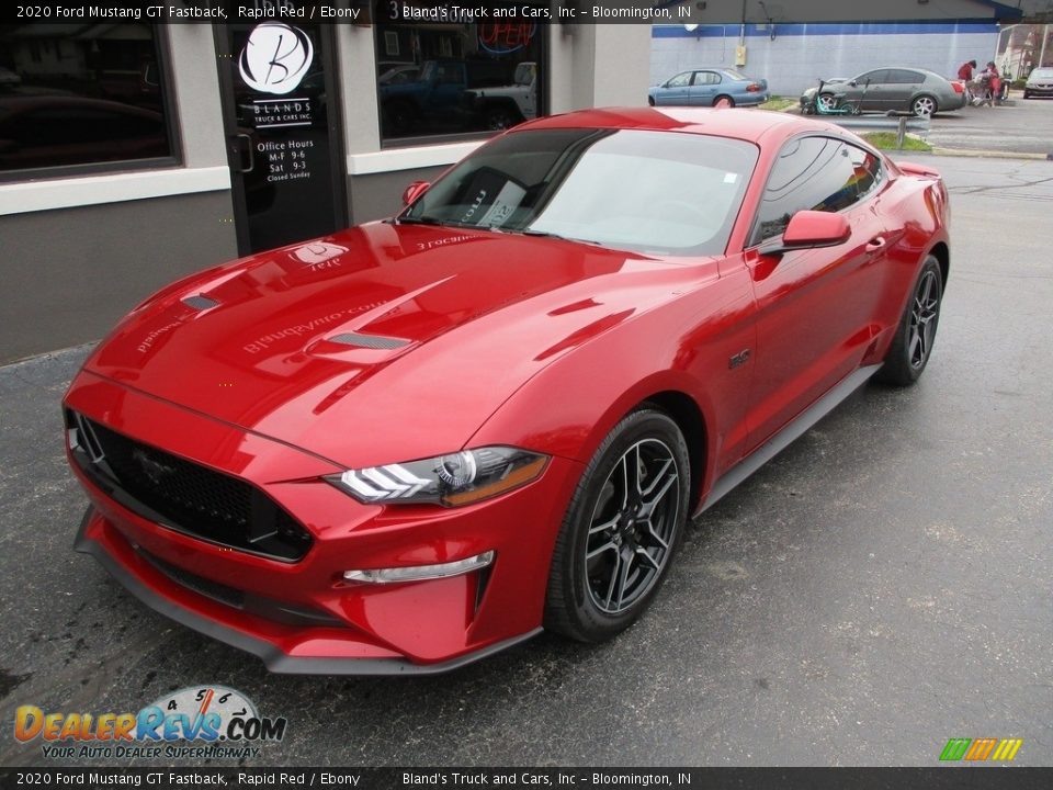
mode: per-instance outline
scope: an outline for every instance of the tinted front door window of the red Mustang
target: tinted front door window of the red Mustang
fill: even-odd
[[[799,211],[837,212],[859,200],[849,146],[828,137],[790,140],[771,168],[754,244],[779,236]]]

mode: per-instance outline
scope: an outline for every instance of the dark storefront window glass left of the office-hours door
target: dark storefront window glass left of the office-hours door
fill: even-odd
[[[0,29],[0,173],[172,156],[155,27]]]

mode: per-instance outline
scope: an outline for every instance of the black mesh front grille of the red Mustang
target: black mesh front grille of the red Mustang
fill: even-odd
[[[75,411],[70,447],[81,470],[143,518],[195,538],[294,562],[310,534],[256,486],[144,444]]]

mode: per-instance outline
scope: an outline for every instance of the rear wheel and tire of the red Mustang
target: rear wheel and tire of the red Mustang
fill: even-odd
[[[903,311],[896,336],[875,376],[878,381],[893,386],[910,386],[921,376],[932,356],[942,301],[940,262],[928,256],[910,289],[910,298]]]

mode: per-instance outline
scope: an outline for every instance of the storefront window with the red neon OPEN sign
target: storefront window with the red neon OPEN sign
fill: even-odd
[[[385,143],[497,132],[544,114],[547,25],[407,19],[416,5],[399,3],[401,18],[374,24]]]

